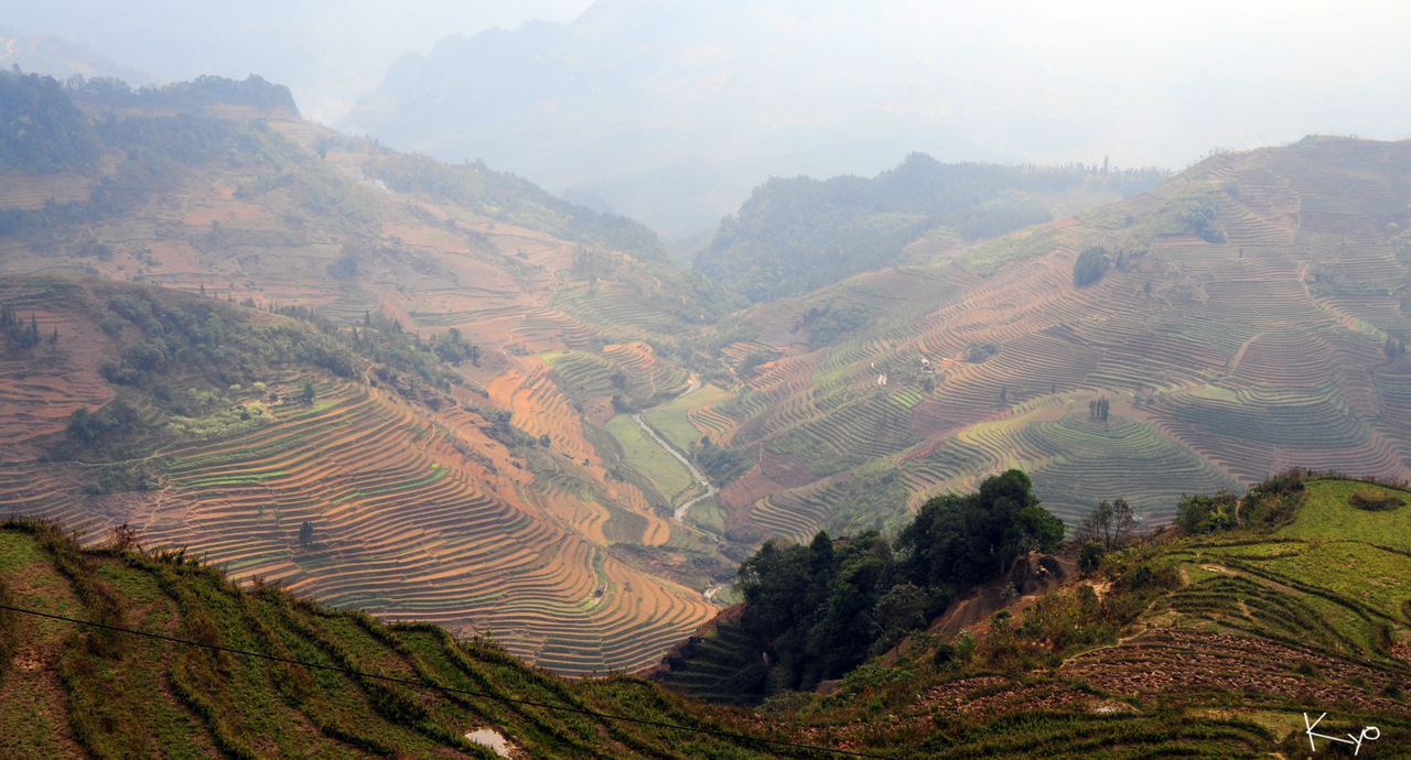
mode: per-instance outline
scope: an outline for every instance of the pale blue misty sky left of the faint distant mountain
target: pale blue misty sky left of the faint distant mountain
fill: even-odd
[[[56,34],[166,80],[258,73],[289,85],[305,116],[332,121],[399,55],[452,34],[569,21],[591,0],[0,0],[0,25]]]

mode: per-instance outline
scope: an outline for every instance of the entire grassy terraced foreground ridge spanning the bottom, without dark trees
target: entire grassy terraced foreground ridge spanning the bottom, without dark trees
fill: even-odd
[[[1219,509],[1197,510],[1192,530],[1212,533],[1113,551],[1081,575],[1067,557],[1050,564],[1057,580],[1012,572],[818,692],[753,711],[629,677],[564,681],[485,639],[241,591],[182,551],[138,551],[141,536],[82,550],[56,527],[10,520],[0,605],[195,644],[0,611],[0,747],[492,757],[464,739],[492,730],[521,757],[827,756],[759,739],[878,757],[1302,757],[1302,713],[1326,712],[1325,736],[1379,729],[1359,757],[1404,756],[1411,494],[1283,484],[1260,502],[1295,506],[1278,527],[1223,529],[1209,519]],[[696,647],[720,654],[725,636],[720,626]],[[704,664],[691,658],[674,682],[701,687],[690,674]],[[1316,740],[1315,756],[1352,754],[1339,753]]]

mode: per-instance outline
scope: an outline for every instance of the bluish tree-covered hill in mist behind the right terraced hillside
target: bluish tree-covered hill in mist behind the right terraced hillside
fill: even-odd
[[[694,269],[749,300],[770,300],[885,266],[935,227],[976,240],[1053,219],[1023,193],[1086,183],[1130,195],[1164,178],[1158,171],[1099,173],[1081,165],[941,164],[924,154],[872,179],[775,178],[721,221]]]

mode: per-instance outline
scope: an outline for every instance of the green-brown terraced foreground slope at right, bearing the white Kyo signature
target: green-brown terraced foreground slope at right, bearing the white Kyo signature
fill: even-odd
[[[1326,713],[1316,733],[1376,726],[1357,756],[1401,757],[1411,492],[1336,477],[1302,486],[1277,529],[1168,530],[1084,572],[1070,550],[1050,563],[1055,578],[1020,558],[928,632],[762,709],[820,736],[907,737],[945,757],[1343,756],[1326,739],[1309,752],[1304,713]],[[741,661],[756,644],[741,630],[721,615],[656,677],[738,699],[741,666],[758,667]]]

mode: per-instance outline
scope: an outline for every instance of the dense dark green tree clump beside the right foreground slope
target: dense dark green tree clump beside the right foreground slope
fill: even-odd
[[[748,694],[837,678],[944,612],[959,591],[1019,554],[1061,541],[1064,525],[1017,470],[979,491],[927,502],[895,541],[875,530],[809,546],[772,540],[739,567],[741,629],[759,654],[735,684]]]

